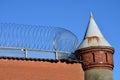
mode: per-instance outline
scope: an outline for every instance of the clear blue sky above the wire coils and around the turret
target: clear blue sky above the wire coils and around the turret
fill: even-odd
[[[83,39],[90,12],[115,48],[114,79],[120,79],[119,0],[0,0],[0,23],[62,27]]]

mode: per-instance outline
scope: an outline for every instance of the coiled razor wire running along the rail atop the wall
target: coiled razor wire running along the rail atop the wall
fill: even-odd
[[[72,32],[59,27],[0,23],[0,48],[72,53],[77,42]]]

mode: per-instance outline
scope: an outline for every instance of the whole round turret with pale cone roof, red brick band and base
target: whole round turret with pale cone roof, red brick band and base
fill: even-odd
[[[104,38],[92,14],[82,43],[75,52],[83,60],[85,80],[113,80],[114,49]]]

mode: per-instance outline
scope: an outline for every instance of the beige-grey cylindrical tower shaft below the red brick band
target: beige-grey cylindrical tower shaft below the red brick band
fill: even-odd
[[[85,71],[85,80],[113,80],[109,69],[90,69]]]

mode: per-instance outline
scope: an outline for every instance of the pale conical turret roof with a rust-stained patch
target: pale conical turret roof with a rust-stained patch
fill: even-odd
[[[90,14],[90,20],[82,43],[78,49],[86,48],[90,46],[110,46],[108,41],[102,35],[98,25],[96,24],[92,13]]]

